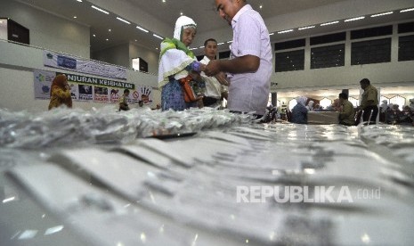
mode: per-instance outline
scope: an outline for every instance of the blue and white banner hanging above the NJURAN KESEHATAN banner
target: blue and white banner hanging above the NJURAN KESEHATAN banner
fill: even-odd
[[[99,75],[108,78],[126,79],[126,69],[98,61],[81,60],[66,54],[44,51],[44,65],[61,70]]]

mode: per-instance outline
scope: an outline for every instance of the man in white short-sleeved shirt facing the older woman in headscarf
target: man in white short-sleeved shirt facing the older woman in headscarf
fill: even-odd
[[[231,59],[210,61],[207,76],[227,72],[230,80],[227,107],[235,113],[256,112],[261,119],[266,110],[272,75],[272,46],[260,13],[246,0],[215,0],[220,17],[233,30]]]

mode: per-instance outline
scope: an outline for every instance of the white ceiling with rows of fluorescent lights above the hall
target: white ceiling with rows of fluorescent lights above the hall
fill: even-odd
[[[43,9],[46,12],[52,12],[53,14],[57,14],[71,21],[76,21],[80,24],[89,26],[91,29],[92,51],[99,51],[110,46],[125,44],[129,42],[135,42],[149,49],[156,49],[159,46],[160,40],[156,37],[153,37],[152,33],[165,36],[172,35],[175,20],[180,16],[180,12],[183,12],[184,15],[190,16],[198,23],[198,33],[202,34],[228,28],[227,22],[221,20],[215,11],[214,0],[166,0],[166,3],[163,3],[163,0],[84,0],[82,3],[77,2],[77,0],[15,1],[36,6],[37,8]],[[369,0],[248,0],[249,4],[261,12],[265,22],[272,21],[275,16],[284,16],[288,15],[289,13],[318,9],[327,5],[341,4],[342,2],[368,3]],[[372,0],[370,0],[370,3],[371,2]],[[411,0],[411,3],[411,6],[414,7],[414,1]],[[104,14],[93,10],[93,8],[91,8],[92,4],[95,4],[101,8],[110,6],[110,8],[113,9],[105,9],[106,11],[110,12],[110,14]],[[263,6],[262,9],[260,9],[260,5]],[[375,12],[374,6],[373,9],[374,10],[372,13],[377,13]],[[120,10],[126,11],[122,12]],[[341,16],[339,14],[340,11],[341,10],[338,10],[337,16]],[[355,9],[355,12],[358,12],[358,10]],[[330,15],[332,15],[332,13],[330,13]],[[77,19],[74,19],[74,16],[77,16]],[[129,16],[130,18],[127,18],[126,16]],[[116,20],[116,17],[121,17],[127,21],[131,21],[132,24],[127,25],[124,22]],[[145,26],[143,28],[149,29],[150,33],[143,33],[142,31],[135,28],[136,25],[142,24],[137,23],[138,21],[134,22],[132,20],[140,20],[140,17],[141,21],[145,23]],[[355,16],[350,15],[348,17],[353,18]],[[359,26],[377,25],[381,23],[389,23],[393,21],[409,19],[414,19],[414,12],[407,12],[405,14],[394,12],[393,14],[382,18],[366,18],[366,20],[363,21],[353,21],[348,23],[341,21],[339,25],[319,27],[318,29],[308,29],[301,31],[300,34],[297,32],[281,35],[276,34],[272,36],[272,42],[282,39],[295,38],[298,35],[305,37],[317,33],[334,32],[338,29],[352,29]],[[110,32],[109,29],[111,29]],[[166,33],[166,29],[170,30],[169,32],[171,32],[171,34]],[[269,31],[274,32],[280,30],[269,29]],[[229,32],[231,32],[230,29]],[[96,37],[93,37],[93,34],[96,35]],[[109,41],[106,41],[106,38],[108,38]],[[217,38],[217,40],[219,40],[219,38]],[[202,44],[202,40],[196,41],[197,42],[195,42],[194,45],[198,46]],[[227,47],[224,47],[223,45],[222,49],[226,48]]]

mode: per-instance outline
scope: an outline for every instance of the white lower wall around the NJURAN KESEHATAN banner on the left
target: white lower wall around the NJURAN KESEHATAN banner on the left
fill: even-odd
[[[33,70],[53,70],[67,72],[66,70],[46,68],[43,65],[43,50],[26,45],[16,45],[0,40],[0,108],[10,111],[47,111],[48,100],[35,99]],[[76,73],[75,73],[76,74]],[[98,77],[98,76],[93,76]],[[126,70],[126,82],[135,86],[158,86],[157,77],[138,71]],[[160,103],[160,92],[153,89],[155,107]],[[73,102],[73,106],[84,110],[93,107],[113,105],[101,102]],[[114,105],[114,108],[116,106]],[[135,107],[133,105],[133,107]]]

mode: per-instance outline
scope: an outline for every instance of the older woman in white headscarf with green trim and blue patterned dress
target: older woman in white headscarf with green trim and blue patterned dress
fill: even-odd
[[[185,83],[191,80],[198,81],[200,87],[203,85],[199,72],[206,65],[195,59],[194,53],[189,50],[197,32],[197,24],[187,16],[181,16],[175,22],[174,38],[166,38],[161,43],[158,66],[158,86],[161,88],[161,109],[163,111],[183,111],[186,108],[197,105],[202,96],[187,95],[191,100],[186,104],[183,92]],[[189,86],[186,86],[189,91]],[[191,89],[191,88],[190,88]],[[195,104],[195,105],[194,105]]]

